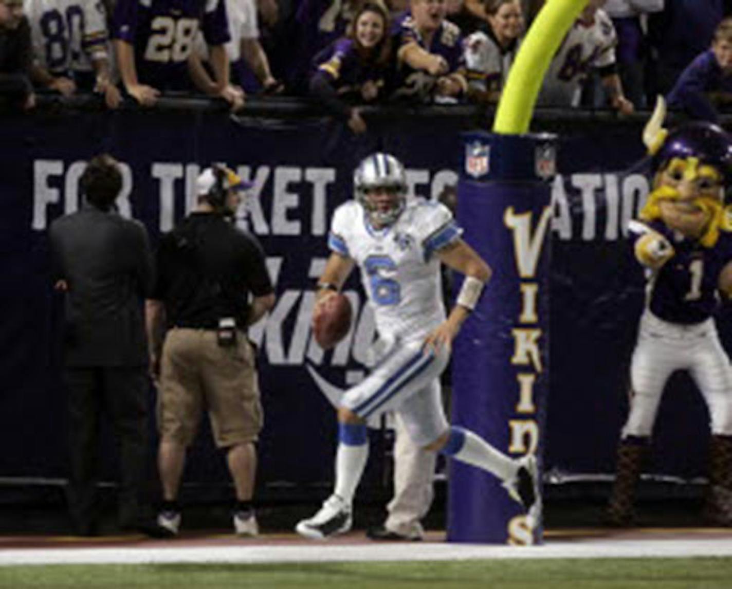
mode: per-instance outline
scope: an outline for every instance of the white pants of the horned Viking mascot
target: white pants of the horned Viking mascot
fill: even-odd
[[[732,369],[714,320],[669,323],[646,309],[630,364],[632,397],[623,438],[651,435],[663,388],[676,370],[688,370],[701,390],[712,434],[732,435]]]

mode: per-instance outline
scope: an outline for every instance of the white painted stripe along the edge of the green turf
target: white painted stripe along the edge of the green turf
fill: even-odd
[[[520,558],[681,558],[732,556],[732,539],[551,541],[534,547],[479,544],[330,542],[298,546],[83,548],[0,550],[0,566],[48,564],[322,563]]]

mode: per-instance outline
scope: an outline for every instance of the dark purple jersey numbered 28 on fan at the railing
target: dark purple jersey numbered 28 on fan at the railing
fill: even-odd
[[[112,37],[135,48],[141,83],[162,90],[185,89],[187,59],[199,29],[209,45],[228,42],[223,0],[119,0]]]

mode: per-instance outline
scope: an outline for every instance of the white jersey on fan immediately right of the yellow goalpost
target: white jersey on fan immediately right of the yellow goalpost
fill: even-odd
[[[575,21],[549,65],[537,104],[578,105],[587,72],[614,64],[617,42],[613,21],[603,10],[595,13],[591,25]]]

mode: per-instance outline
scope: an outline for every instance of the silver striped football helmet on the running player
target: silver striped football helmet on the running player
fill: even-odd
[[[354,172],[354,192],[373,225],[392,225],[406,206],[407,176],[404,165],[393,155],[370,155]],[[390,198],[381,198],[377,202],[372,198],[376,192],[385,192]]]

